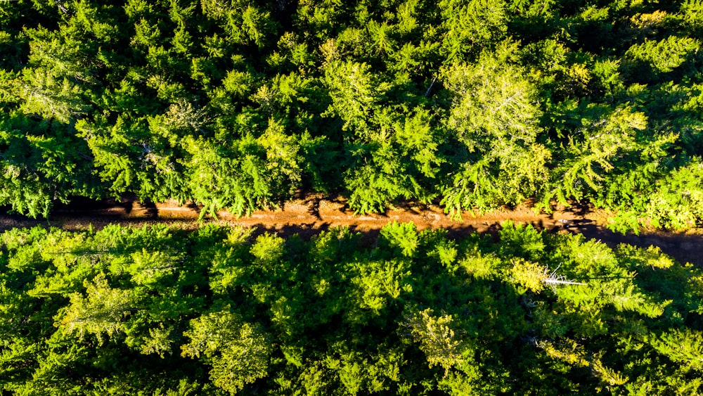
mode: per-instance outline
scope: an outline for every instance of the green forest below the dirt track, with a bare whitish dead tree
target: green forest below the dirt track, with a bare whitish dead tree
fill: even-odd
[[[703,271],[503,224],[0,234],[3,395],[697,395]]]

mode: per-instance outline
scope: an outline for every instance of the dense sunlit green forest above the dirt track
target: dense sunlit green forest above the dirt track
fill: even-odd
[[[297,193],[703,224],[703,1],[0,2],[0,205]]]

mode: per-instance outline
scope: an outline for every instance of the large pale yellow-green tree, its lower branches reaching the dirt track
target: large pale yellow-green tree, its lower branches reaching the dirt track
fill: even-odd
[[[447,212],[515,205],[539,196],[551,154],[537,142],[541,132],[536,86],[512,65],[515,43],[476,65],[444,69],[451,93],[446,127],[460,144],[442,186]]]

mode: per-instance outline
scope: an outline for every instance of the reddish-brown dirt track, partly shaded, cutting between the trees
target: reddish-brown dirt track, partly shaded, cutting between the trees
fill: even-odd
[[[349,226],[369,240],[375,239],[382,226],[389,222],[413,222],[418,229],[446,229],[449,236],[458,237],[472,232],[496,236],[501,223],[532,224],[536,229],[548,232],[571,232],[586,238],[600,240],[611,247],[619,243],[648,248],[658,246],[679,262],[690,262],[703,267],[703,235],[695,232],[673,233],[666,231],[643,231],[639,235],[622,235],[605,227],[609,213],[594,210],[588,205],[574,204],[568,207],[557,205],[551,214],[536,213],[529,203],[514,208],[502,208],[484,214],[466,212],[462,219],[452,219],[436,205],[407,203],[399,205],[385,214],[354,215],[343,198],[308,196],[291,200],[275,210],[260,210],[247,217],[236,218],[228,212],[218,212],[218,219],[206,218],[198,222],[198,205],[179,205],[174,201],[165,203],[140,203],[134,198],[123,198],[119,202],[78,200],[70,205],[57,205],[49,220],[29,219],[9,215],[0,211],[0,231],[20,226],[56,226],[62,229],[86,229],[92,225],[100,229],[108,224],[166,223],[184,229],[195,229],[202,222],[256,227],[257,232],[276,232],[281,236],[299,234],[303,238],[335,226]],[[697,230],[700,232],[700,230]]]

